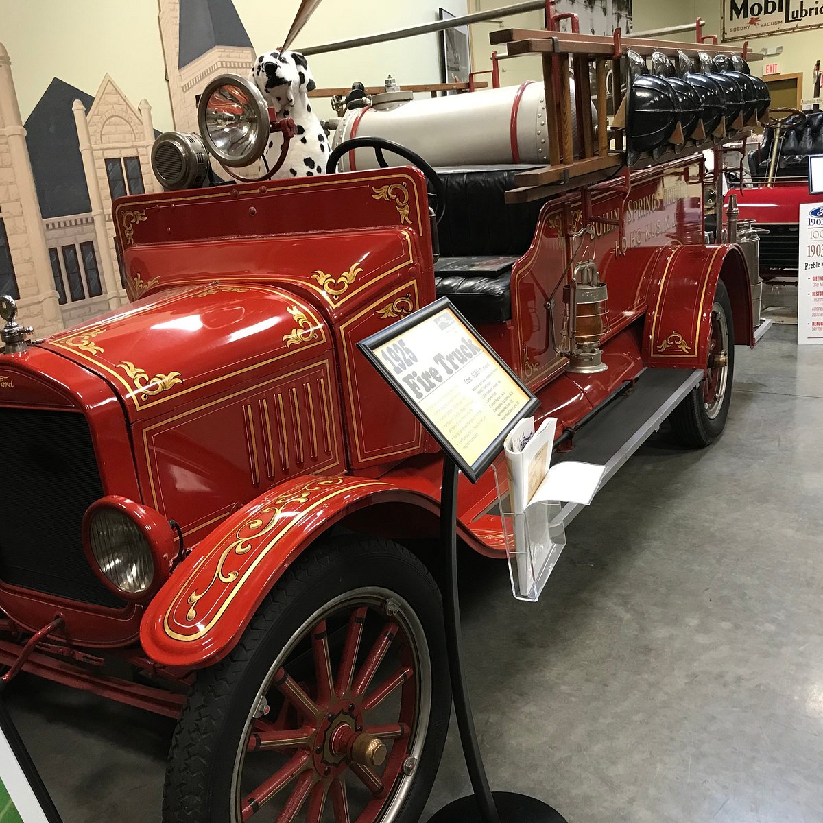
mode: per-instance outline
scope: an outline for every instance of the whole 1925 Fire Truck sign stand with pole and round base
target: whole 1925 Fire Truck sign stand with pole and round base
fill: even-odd
[[[445,639],[454,714],[474,794],[435,812],[430,823],[566,823],[536,797],[491,791],[463,671],[458,597],[459,473],[476,482],[500,454],[509,431],[539,402],[446,298],[357,345],[444,451]]]

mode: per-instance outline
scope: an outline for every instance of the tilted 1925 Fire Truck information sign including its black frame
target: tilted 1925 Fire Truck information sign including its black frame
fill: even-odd
[[[357,345],[472,483],[540,405],[447,298]]]

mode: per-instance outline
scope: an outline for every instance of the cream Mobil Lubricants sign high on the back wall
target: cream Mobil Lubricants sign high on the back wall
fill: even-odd
[[[723,0],[723,40],[823,26],[823,0]]]

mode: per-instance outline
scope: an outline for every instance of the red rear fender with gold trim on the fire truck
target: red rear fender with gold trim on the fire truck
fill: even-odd
[[[714,294],[723,280],[732,301],[734,342],[754,346],[751,284],[736,245],[670,246],[649,281],[643,360],[664,369],[704,369]]]

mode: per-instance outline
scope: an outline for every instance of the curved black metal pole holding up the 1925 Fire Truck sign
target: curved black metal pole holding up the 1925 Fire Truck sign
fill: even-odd
[[[440,497],[440,537],[446,552],[444,618],[446,648],[449,651],[449,673],[452,680],[454,714],[458,719],[460,742],[474,796],[483,823],[500,823],[495,798],[489,788],[489,779],[477,744],[477,732],[472,718],[468,684],[463,672],[463,633],[460,629],[460,600],[458,592],[458,473],[459,469],[448,455],[443,461],[443,489]]]

